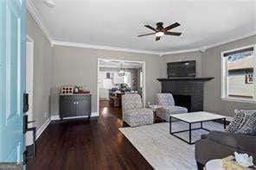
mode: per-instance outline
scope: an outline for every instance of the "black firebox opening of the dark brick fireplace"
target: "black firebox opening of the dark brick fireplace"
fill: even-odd
[[[190,95],[176,95],[176,94],[172,94],[172,95],[176,105],[187,108],[189,112],[191,111]]]

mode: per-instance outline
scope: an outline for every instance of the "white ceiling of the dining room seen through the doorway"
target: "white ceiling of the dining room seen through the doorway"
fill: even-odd
[[[99,60],[99,66],[112,68],[141,68],[142,63],[118,60]]]

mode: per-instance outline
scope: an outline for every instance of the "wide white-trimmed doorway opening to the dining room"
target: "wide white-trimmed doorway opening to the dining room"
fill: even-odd
[[[101,106],[121,109],[126,93],[138,93],[145,104],[145,62],[98,59],[98,113]]]

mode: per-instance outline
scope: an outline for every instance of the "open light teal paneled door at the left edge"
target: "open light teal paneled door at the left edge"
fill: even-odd
[[[25,5],[25,0],[0,0],[0,162],[23,161]]]

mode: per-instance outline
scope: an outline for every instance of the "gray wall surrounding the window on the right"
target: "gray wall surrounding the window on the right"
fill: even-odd
[[[221,100],[221,52],[256,44],[256,35],[206,50],[202,56],[202,76],[214,77],[205,85],[204,110],[234,116],[234,109],[255,110],[256,104]]]

